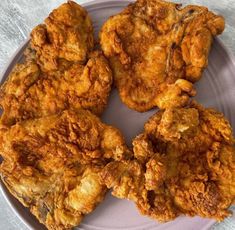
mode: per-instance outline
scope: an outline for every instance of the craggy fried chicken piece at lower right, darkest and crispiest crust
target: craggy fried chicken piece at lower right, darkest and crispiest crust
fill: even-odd
[[[235,200],[235,147],[229,122],[196,102],[168,108],[133,141],[134,159],[109,163],[101,182],[160,222],[184,214],[223,220]]]

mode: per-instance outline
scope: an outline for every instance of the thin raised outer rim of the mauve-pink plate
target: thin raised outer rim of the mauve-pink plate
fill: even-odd
[[[97,0],[87,0],[86,2],[82,2],[82,3],[78,3],[83,7],[89,7],[92,6],[93,4],[102,4],[102,3],[120,3],[120,2],[134,2],[135,0],[99,0],[97,2]],[[231,50],[228,49],[228,47],[224,44],[224,42],[222,41],[221,38],[216,37],[214,38],[218,44],[222,47],[222,49],[224,49],[224,51],[226,52],[226,54],[228,55],[228,59],[231,61],[231,63],[233,64],[234,68],[235,68],[235,56],[233,55],[233,53],[231,52]],[[30,38],[26,38],[23,42],[21,42],[21,44],[19,45],[19,47],[15,50],[15,52],[12,54],[12,56],[10,57],[10,59],[8,60],[8,62],[6,63],[5,67],[3,68],[3,71],[0,74],[0,85],[2,85],[7,77],[9,76],[9,74],[7,75],[7,73],[10,73],[12,71],[12,69],[14,68],[14,66],[12,67],[11,64],[13,62],[17,62],[20,57],[22,56],[23,51],[25,50],[25,48],[27,47],[28,43],[30,41]],[[17,218],[25,225],[25,227],[27,227],[28,229],[34,229],[34,227],[32,226],[32,224],[26,220],[22,214],[20,214],[20,212],[17,211],[17,209],[15,208],[14,203],[10,200],[10,197],[14,197],[11,193],[9,193],[7,191],[6,186],[3,184],[2,179],[0,179],[0,191],[6,201],[6,203],[9,205],[10,209],[13,211],[13,213],[17,216]],[[15,197],[14,197],[15,198]],[[21,204],[23,206],[23,204]],[[211,228],[213,225],[215,225],[216,222],[209,222],[205,228],[209,229]]]

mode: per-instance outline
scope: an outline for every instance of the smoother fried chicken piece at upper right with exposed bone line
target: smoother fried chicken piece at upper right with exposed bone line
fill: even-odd
[[[122,101],[140,112],[186,105],[224,19],[202,6],[137,0],[110,17],[100,43]]]

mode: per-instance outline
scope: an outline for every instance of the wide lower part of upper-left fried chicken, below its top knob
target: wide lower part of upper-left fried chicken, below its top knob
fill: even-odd
[[[44,73],[34,61],[18,64],[1,87],[1,123],[12,125],[69,108],[101,114],[111,84],[111,70],[98,51],[90,55],[85,66],[74,63],[66,70]]]

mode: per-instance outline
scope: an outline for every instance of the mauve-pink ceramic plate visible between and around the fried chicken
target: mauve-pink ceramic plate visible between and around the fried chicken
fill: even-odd
[[[92,17],[96,36],[101,25],[111,15],[120,12],[130,1],[99,0],[89,1],[83,6]],[[23,51],[27,47],[26,41],[16,52],[2,76],[2,82],[7,78],[14,65],[22,59]],[[210,106],[223,112],[235,128],[235,62],[232,56],[216,39],[210,53],[209,66],[204,71],[202,79],[196,84],[196,99],[204,106]],[[124,134],[128,144],[143,129],[145,121],[156,110],[138,113],[128,109],[121,103],[117,91],[111,93],[109,105],[103,114],[103,121],[115,125]],[[18,217],[31,229],[42,230],[44,226],[38,223],[33,215],[13,198],[2,185],[2,192],[18,215]],[[147,217],[139,215],[135,205],[126,200],[119,200],[107,194],[104,202],[76,229],[84,230],[204,230],[209,229],[215,221],[200,217],[179,217],[176,220],[160,224]]]

